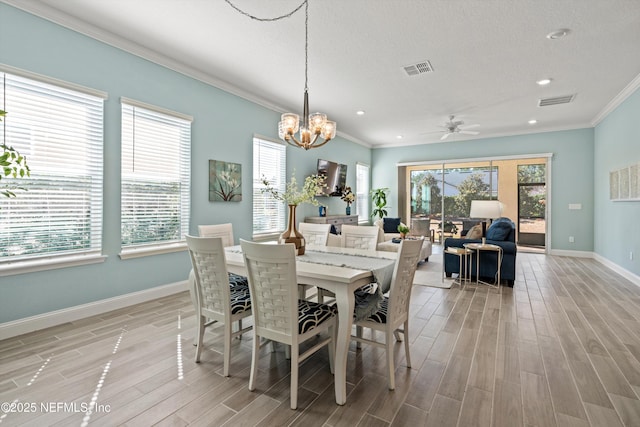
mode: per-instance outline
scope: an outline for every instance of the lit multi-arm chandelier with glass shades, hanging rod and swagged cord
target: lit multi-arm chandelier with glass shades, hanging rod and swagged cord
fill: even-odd
[[[291,12],[275,18],[258,18],[247,12],[240,10],[230,0],[225,0],[231,7],[243,15],[256,21],[278,21],[288,18],[300,10],[304,5],[304,101],[302,107],[302,124],[300,116],[294,113],[284,113],[278,123],[278,136],[294,147],[301,147],[305,150],[322,147],[336,136],[336,122],[327,120],[327,115],[323,113],[309,114],[309,0],[304,0]],[[299,136],[296,138],[296,133]]]

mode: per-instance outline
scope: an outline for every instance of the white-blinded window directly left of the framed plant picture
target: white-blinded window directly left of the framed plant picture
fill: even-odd
[[[189,232],[191,121],[122,99],[124,258],[144,245],[183,242]]]

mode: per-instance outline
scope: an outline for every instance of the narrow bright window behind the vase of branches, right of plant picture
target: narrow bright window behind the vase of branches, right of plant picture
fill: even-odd
[[[266,179],[278,191],[286,187],[287,151],[284,144],[253,138],[253,235],[275,234],[284,230],[285,206],[262,193]]]

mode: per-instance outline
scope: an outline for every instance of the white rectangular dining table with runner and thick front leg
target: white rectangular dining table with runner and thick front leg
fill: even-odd
[[[323,258],[322,254],[327,256]],[[337,256],[336,256],[337,255]],[[227,270],[247,274],[240,246],[225,248]],[[397,253],[368,251],[332,246],[307,247],[306,254],[296,257],[298,284],[317,286],[335,294],[338,308],[334,383],[336,403],[347,401],[347,358],[353,326],[355,291],[386,276],[390,282]],[[366,267],[367,265],[373,268]],[[387,284],[388,286],[388,284]],[[365,286],[366,287],[366,286]]]

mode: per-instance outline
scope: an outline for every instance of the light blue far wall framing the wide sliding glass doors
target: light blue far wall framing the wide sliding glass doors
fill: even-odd
[[[397,164],[403,162],[553,153],[551,249],[593,250],[593,129],[486,138],[373,150],[372,188],[391,188],[391,215],[398,214]],[[570,203],[582,210],[569,210]],[[576,236],[569,243],[569,236]]]

